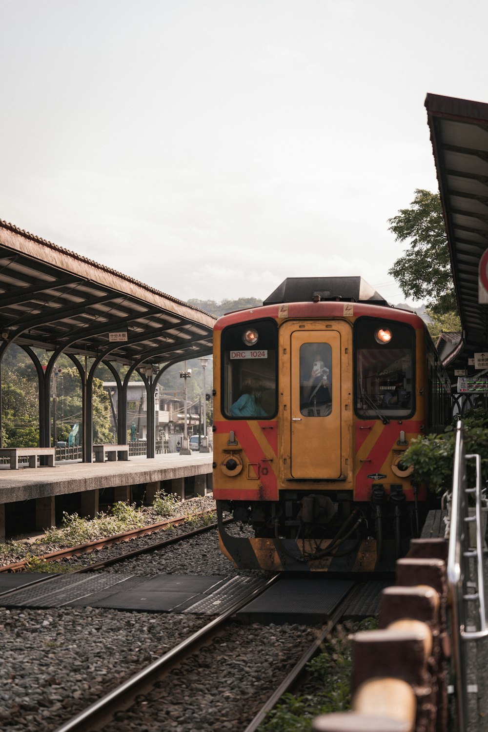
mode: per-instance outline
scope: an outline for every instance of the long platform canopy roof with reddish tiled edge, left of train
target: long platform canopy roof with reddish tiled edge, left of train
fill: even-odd
[[[213,315],[1,220],[0,293],[1,340],[18,346],[125,364],[211,353]]]

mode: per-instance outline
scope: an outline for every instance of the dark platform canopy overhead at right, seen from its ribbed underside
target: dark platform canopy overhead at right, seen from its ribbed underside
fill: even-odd
[[[488,307],[478,303],[488,248],[488,104],[427,94],[425,106],[468,356],[488,349]]]

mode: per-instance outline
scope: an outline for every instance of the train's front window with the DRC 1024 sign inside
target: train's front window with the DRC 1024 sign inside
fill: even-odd
[[[222,413],[269,419],[277,413],[277,324],[251,321],[222,332]]]

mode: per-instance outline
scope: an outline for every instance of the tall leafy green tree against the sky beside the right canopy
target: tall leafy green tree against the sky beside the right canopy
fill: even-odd
[[[388,275],[394,277],[405,296],[424,300],[432,313],[456,313],[440,195],[417,188],[410,207],[400,209],[388,223],[397,242],[410,242]]]

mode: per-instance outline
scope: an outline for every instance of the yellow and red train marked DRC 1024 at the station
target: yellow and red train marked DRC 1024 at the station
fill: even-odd
[[[448,376],[424,321],[361,277],[288,278],[263,307],[219,318],[222,551],[243,569],[388,569],[427,513],[402,454],[450,418]]]

